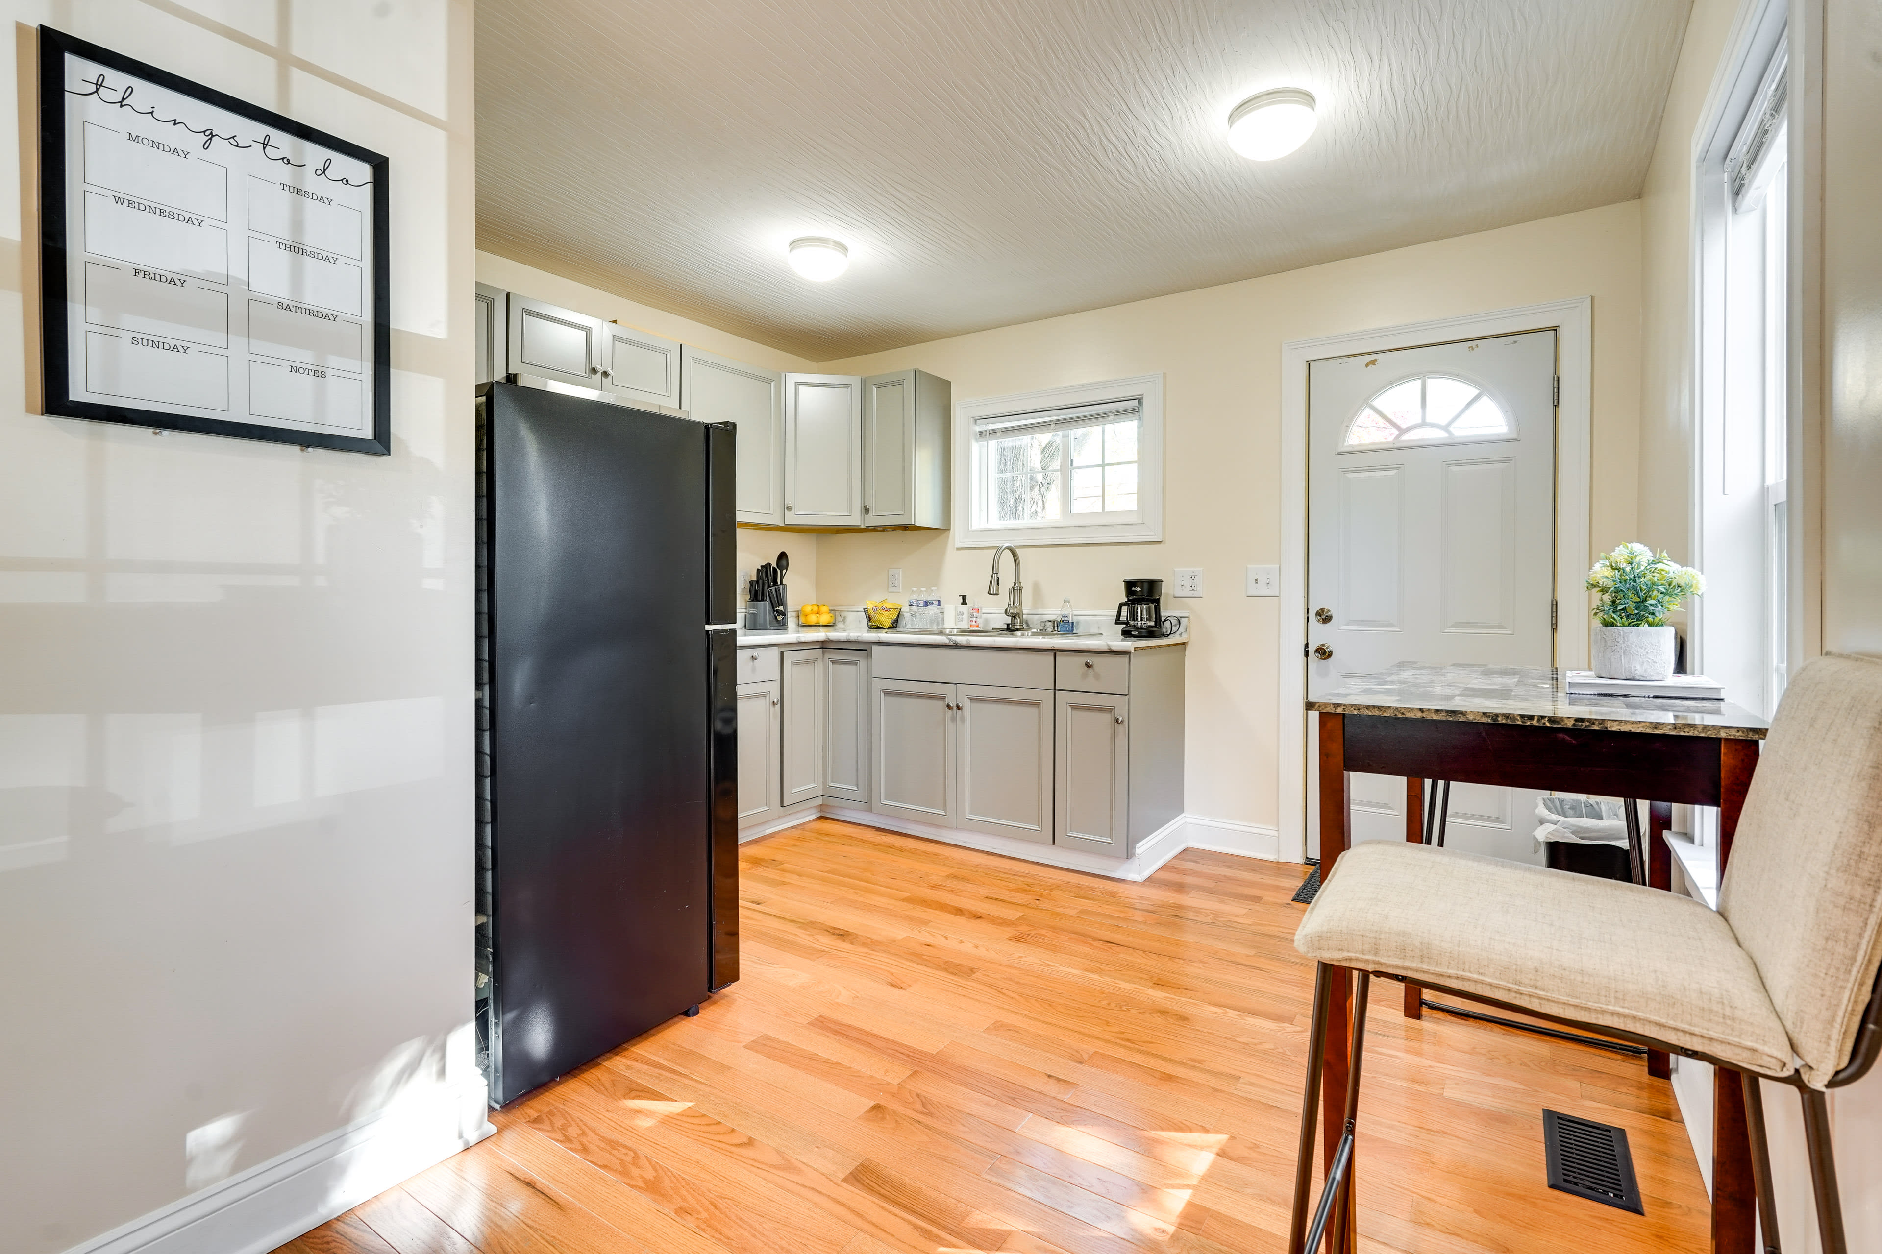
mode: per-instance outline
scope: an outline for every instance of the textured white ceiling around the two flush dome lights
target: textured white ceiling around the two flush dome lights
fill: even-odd
[[[1206,288],[1637,196],[1688,4],[478,0],[478,246],[815,361]]]

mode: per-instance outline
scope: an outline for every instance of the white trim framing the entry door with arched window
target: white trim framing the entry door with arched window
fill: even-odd
[[[1487,314],[1438,318],[1374,331],[1325,335],[1282,344],[1282,603],[1280,669],[1280,857],[1306,859],[1306,367],[1316,357],[1396,352],[1517,331],[1556,333],[1555,447],[1555,598],[1556,666],[1583,666],[1588,656],[1588,427],[1594,391],[1594,297],[1523,305]]]

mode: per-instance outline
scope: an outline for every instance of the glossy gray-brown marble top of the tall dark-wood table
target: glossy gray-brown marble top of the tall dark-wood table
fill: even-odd
[[[1310,711],[1462,722],[1656,731],[1762,741],[1771,724],[1730,701],[1570,696],[1562,671],[1528,666],[1400,662],[1374,675],[1308,682]]]

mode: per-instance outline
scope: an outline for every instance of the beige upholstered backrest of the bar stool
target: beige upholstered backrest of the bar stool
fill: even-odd
[[[1882,662],[1797,671],[1752,776],[1718,914],[1822,1089],[1882,963]]]

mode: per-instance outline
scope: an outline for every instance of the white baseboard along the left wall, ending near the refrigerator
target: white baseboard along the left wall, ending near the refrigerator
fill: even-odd
[[[277,1154],[66,1254],[265,1254],[495,1132],[478,1075]]]

